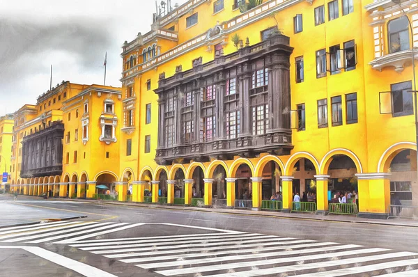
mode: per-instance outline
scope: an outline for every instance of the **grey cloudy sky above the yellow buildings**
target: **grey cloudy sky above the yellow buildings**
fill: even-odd
[[[158,1],[160,3],[160,1]],[[172,5],[186,0],[171,0]],[[61,81],[121,86],[121,46],[150,31],[155,0],[0,1],[0,116]]]

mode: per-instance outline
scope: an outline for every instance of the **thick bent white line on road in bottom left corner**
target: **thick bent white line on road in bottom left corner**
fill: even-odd
[[[106,271],[102,271],[101,269],[97,269],[95,267],[91,267],[88,264],[84,264],[82,262],[77,262],[76,260],[71,260],[70,258],[66,258],[62,255],[56,254],[51,251],[47,251],[46,249],[37,247],[37,246],[0,246],[0,248],[7,249],[23,249],[24,251],[28,251],[33,255],[37,255],[38,257],[49,260],[49,262],[54,262],[54,264],[59,264],[61,267],[65,267],[67,269],[71,269],[73,271],[82,274],[83,276],[87,277],[116,277],[113,274],[109,274]]]

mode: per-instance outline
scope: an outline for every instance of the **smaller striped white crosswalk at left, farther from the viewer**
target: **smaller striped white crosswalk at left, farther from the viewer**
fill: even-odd
[[[33,225],[0,228],[0,243],[77,242],[111,232],[143,225],[143,223],[113,223],[97,221],[55,221]]]

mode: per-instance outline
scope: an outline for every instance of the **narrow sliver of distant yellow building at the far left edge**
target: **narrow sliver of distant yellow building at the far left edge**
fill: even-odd
[[[10,164],[10,158],[13,152],[13,125],[13,114],[8,114],[0,118],[0,171],[2,173],[8,173],[8,180],[7,182],[1,182],[0,189],[5,189],[6,184],[10,184],[10,172],[13,168],[12,164]]]

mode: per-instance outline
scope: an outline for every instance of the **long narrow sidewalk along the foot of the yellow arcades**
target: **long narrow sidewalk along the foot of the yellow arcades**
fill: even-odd
[[[20,196],[20,199],[26,198],[30,199],[43,199],[37,196]],[[1,199],[1,198],[0,198]],[[48,200],[65,200],[65,201],[75,201],[75,202],[88,202],[88,203],[98,203],[98,200],[90,199],[71,199],[71,198],[48,198]],[[320,214],[303,214],[303,213],[285,213],[285,212],[271,212],[271,211],[253,211],[251,209],[222,209],[222,208],[204,208],[204,207],[184,207],[182,205],[163,205],[163,204],[148,204],[148,203],[132,203],[132,202],[118,202],[118,201],[101,201],[101,204],[105,205],[119,205],[119,206],[129,206],[129,207],[147,207],[153,209],[178,209],[186,211],[199,211],[199,212],[215,212],[222,214],[241,214],[241,215],[251,215],[251,216],[272,216],[281,219],[306,219],[306,220],[316,220],[316,221],[328,221],[328,222],[341,222],[341,223],[363,223],[363,224],[377,224],[377,225],[392,225],[400,227],[415,227],[418,228],[418,221],[408,220],[408,219],[364,219],[357,218],[355,216],[347,215],[320,215]]]

